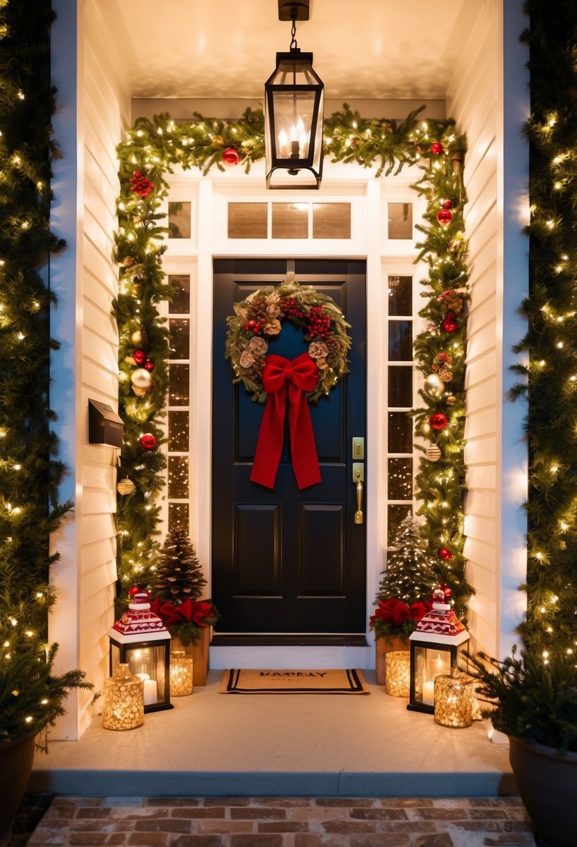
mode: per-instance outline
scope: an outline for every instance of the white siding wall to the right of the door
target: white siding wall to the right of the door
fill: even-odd
[[[470,630],[475,646],[492,655],[510,650],[514,640],[523,612],[523,595],[517,589],[525,569],[524,408],[505,398],[512,382],[508,373],[508,364],[514,361],[511,346],[524,332],[516,309],[526,285],[524,221],[519,208],[526,205],[521,127],[527,90],[522,74],[520,79],[510,78],[507,66],[517,63],[522,68],[524,64],[519,58],[519,34],[525,25],[520,9],[520,0],[486,0],[455,63],[448,96],[448,114],[457,119],[469,144],[465,169],[471,270],[465,555],[475,588]],[[505,142],[510,153],[503,153]],[[511,274],[506,274],[508,257],[516,263]],[[507,484],[508,479],[513,484]]]

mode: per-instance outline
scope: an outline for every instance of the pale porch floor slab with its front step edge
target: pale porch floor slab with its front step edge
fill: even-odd
[[[369,695],[221,695],[222,671],[129,732],[100,717],[36,754],[30,791],[94,796],[490,797],[515,791],[482,722],[438,726]]]

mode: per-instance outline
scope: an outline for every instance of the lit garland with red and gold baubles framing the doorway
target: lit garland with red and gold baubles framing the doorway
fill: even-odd
[[[419,258],[429,268],[429,278],[424,281],[426,307],[421,315],[431,325],[416,339],[415,351],[418,367],[430,374],[437,354],[446,349],[449,341],[440,329],[442,319],[447,317],[447,303],[437,298],[455,288],[466,291],[467,243],[463,236],[466,197],[461,167],[466,142],[464,136],[455,133],[453,119],[420,120],[423,108],[416,109],[403,121],[364,119],[344,103],[343,111],[333,113],[325,121],[325,152],[335,162],[355,162],[365,167],[377,163],[377,176],[383,172],[398,174],[405,165],[420,163],[422,175],[413,187],[426,198],[427,209],[425,223],[419,225],[423,239],[417,246]],[[264,118],[261,110],[248,108],[239,121],[206,118],[195,113],[194,121],[176,124],[163,113],[151,120],[137,119],[126,136],[126,141],[118,145],[121,194],[116,245],[120,291],[114,312],[120,336],[120,414],[126,438],[121,476],[128,476],[136,490],[128,496],[120,495],[118,502],[122,547],[118,576],[123,593],[135,582],[151,584],[159,553],[156,500],[162,489],[165,460],[157,448],[162,444],[160,422],[164,414],[168,339],[157,304],[171,296],[163,282],[162,237],[167,230],[160,225],[162,213],[159,212],[168,196],[165,174],[172,173],[174,166],[184,170],[196,167],[202,174],[207,174],[213,166],[223,170],[224,154],[231,148],[248,172],[253,162],[264,157]],[[443,201],[451,204],[450,209],[443,210],[450,218],[447,226],[437,220]],[[464,295],[458,299],[462,306]],[[145,353],[154,362],[154,388],[144,396],[135,396],[131,374],[138,367],[134,354],[143,346],[135,340],[140,326],[151,339]],[[445,414],[448,424],[442,432],[435,430],[431,434],[431,440],[441,448],[442,459],[433,465],[423,458],[415,491],[416,498],[423,503],[420,513],[425,518],[423,533],[427,551],[436,557],[439,580],[450,584],[455,611],[463,618],[470,596],[463,556],[465,332],[462,309],[450,335],[453,356],[450,395],[446,391],[431,397],[421,392],[425,405],[416,412],[418,424],[435,412]],[[450,405],[453,397],[455,402]],[[143,432],[154,436],[152,449],[142,448]],[[417,435],[422,435],[420,429]]]

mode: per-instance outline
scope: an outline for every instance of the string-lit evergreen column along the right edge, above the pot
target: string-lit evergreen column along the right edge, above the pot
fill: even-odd
[[[526,621],[530,650],[577,647],[577,7],[560,0],[552,14],[529,0],[530,149],[529,329],[515,348],[529,363],[514,398],[528,397],[528,562]]]

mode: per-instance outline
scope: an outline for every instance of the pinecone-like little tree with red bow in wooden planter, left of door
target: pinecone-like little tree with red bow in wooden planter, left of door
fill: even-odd
[[[211,626],[219,617],[212,601],[199,600],[205,586],[186,530],[179,525],[169,529],[150,588],[151,610],[168,628],[173,649],[192,655],[195,685],[206,684]]]

